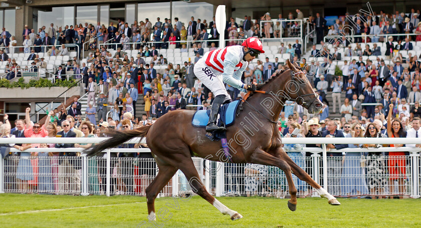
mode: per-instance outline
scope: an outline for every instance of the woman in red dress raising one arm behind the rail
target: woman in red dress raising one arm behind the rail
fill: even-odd
[[[389,104],[389,110],[393,109],[393,104]],[[392,120],[392,111],[387,115],[387,135],[388,137],[406,137],[406,131],[402,127],[402,123],[398,118]],[[403,144],[390,144],[390,147],[400,147]],[[394,191],[395,180],[398,182],[399,198],[403,198],[405,191],[404,179],[406,178],[406,158],[405,152],[389,152],[387,160],[389,168],[389,193]],[[393,198],[393,196],[389,196]]]

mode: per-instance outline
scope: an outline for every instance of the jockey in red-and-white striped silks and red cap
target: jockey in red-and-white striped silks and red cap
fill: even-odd
[[[256,84],[244,84],[241,76],[249,62],[260,53],[265,53],[262,42],[256,37],[249,37],[241,45],[227,46],[204,53],[194,65],[196,77],[215,95],[206,125],[207,132],[226,130],[225,127],[216,124],[221,104],[231,100],[224,82],[243,91],[256,90]],[[217,77],[221,74],[222,80]]]

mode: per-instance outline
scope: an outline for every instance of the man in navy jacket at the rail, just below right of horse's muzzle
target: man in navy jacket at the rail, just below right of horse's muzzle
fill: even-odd
[[[326,130],[322,132],[322,137],[344,137],[342,130],[337,129],[337,123],[334,120],[326,120]],[[326,148],[329,149],[342,149],[348,147],[348,144],[326,144]],[[328,152],[327,156],[335,156],[338,159],[328,159],[327,169],[328,176],[339,176],[342,169],[342,152]],[[340,178],[328,178],[328,191],[329,192],[340,192]]]

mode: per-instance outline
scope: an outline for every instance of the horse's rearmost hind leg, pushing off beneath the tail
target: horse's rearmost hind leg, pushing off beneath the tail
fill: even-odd
[[[155,198],[162,188],[168,183],[171,177],[178,170],[173,165],[170,164],[160,164],[157,163],[159,167],[158,174],[152,180],[148,187],[146,187],[146,200],[148,205],[148,219],[156,220],[155,218]]]

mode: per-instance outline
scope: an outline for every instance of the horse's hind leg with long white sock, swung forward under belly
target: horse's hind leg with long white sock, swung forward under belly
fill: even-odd
[[[188,182],[190,183],[191,189],[194,193],[200,195],[202,198],[206,199],[206,201],[208,201],[210,204],[217,207],[217,209],[219,209],[221,213],[229,214],[232,220],[236,220],[243,217],[237,211],[228,208],[226,205],[222,204],[218,199],[214,198],[214,196],[210,195],[209,192],[207,192],[206,188],[203,186],[203,183],[199,178],[199,174],[197,173],[196,167],[194,167],[194,163],[190,157],[186,157],[185,159],[183,159],[182,164],[180,164],[180,169],[184,173]]]

